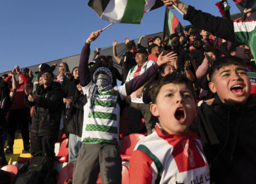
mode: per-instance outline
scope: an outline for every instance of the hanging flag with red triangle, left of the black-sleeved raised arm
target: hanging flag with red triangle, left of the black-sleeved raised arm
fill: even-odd
[[[166,7],[166,15],[164,16],[164,37],[170,37],[171,34],[183,32],[183,27],[178,18]],[[170,40],[169,43],[170,44]]]

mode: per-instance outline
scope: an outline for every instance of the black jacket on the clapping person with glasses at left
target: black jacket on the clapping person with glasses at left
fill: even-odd
[[[46,89],[44,89],[44,85],[40,85],[33,95],[39,96],[38,103],[28,101],[28,97],[25,95],[25,104],[29,107],[34,105],[30,134],[33,136],[57,136],[63,107],[63,92],[60,83],[53,82]]]

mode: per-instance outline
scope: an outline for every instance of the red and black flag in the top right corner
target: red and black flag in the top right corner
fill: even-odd
[[[256,1],[255,0],[233,0],[238,9],[243,13],[244,9],[252,9],[252,15],[247,20],[256,19]]]

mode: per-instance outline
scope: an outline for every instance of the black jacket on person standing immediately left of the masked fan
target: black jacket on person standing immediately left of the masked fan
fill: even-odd
[[[84,96],[74,99],[71,108],[66,108],[65,131],[82,137],[82,123],[84,121]]]

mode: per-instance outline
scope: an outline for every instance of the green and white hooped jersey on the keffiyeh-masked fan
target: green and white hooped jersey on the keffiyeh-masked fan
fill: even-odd
[[[89,87],[83,86],[82,91],[87,99],[84,105],[84,123],[82,126],[82,139],[85,144],[96,144],[105,142],[118,144],[119,140],[119,102],[126,97],[126,86],[115,86],[111,90],[95,93],[92,110],[89,107]],[[86,100],[85,99],[85,100]]]

